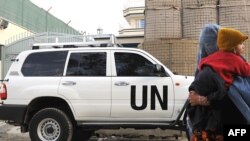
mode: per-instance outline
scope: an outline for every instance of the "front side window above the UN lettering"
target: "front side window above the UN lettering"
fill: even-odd
[[[155,76],[154,64],[135,53],[115,53],[117,76]]]

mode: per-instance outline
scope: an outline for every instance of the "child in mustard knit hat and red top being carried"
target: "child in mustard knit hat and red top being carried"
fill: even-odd
[[[250,124],[250,64],[241,56],[246,39],[248,36],[238,30],[221,28],[217,38],[219,51],[202,59],[199,68],[208,65],[222,77],[229,89],[228,97]]]

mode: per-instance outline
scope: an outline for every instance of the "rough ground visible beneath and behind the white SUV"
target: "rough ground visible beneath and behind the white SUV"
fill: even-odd
[[[177,139],[178,138],[178,139]],[[30,141],[28,133],[0,121],[0,141]],[[187,141],[184,132],[173,130],[98,130],[89,141]]]

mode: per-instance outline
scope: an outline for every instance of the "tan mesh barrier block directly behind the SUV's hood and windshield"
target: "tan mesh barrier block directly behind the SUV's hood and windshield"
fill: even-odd
[[[183,39],[145,40],[141,48],[159,59],[172,72],[193,75],[197,43],[194,40]]]

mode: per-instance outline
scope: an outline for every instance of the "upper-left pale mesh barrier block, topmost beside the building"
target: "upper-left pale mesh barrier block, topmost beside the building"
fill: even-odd
[[[164,7],[163,9],[148,9],[146,11],[146,18],[146,40],[181,38],[180,8]]]

